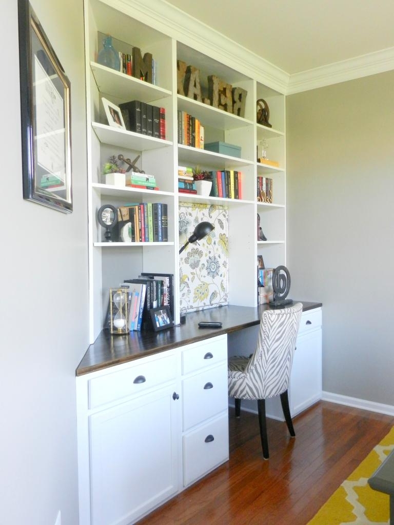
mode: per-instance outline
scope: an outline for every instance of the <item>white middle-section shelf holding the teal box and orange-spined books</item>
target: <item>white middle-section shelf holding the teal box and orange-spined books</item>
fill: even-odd
[[[246,159],[239,159],[238,157],[232,157],[230,155],[223,155],[221,153],[215,153],[214,151],[201,150],[199,148],[192,148],[191,146],[184,146],[178,144],[178,160],[179,164],[200,164],[210,165],[212,168],[221,170],[233,170],[236,167],[251,166],[254,164],[253,161]]]

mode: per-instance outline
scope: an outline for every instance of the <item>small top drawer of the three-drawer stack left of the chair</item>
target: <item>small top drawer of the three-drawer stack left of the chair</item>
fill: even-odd
[[[188,374],[206,366],[227,360],[227,336],[193,343],[182,351],[182,373]]]

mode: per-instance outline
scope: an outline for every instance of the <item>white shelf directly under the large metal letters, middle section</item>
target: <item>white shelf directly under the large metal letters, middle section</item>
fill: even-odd
[[[178,110],[186,111],[192,117],[198,118],[203,126],[210,126],[211,128],[232,130],[254,125],[251,120],[213,108],[208,106],[208,104],[184,97],[183,95],[178,95]]]

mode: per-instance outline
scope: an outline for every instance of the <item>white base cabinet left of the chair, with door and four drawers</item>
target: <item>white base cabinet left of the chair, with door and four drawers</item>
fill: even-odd
[[[77,377],[80,525],[130,525],[229,458],[227,337]]]

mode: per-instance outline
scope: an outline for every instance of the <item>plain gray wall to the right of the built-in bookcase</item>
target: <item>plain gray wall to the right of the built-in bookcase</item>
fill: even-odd
[[[323,388],[394,405],[394,71],[287,97],[292,297],[323,302]]]

